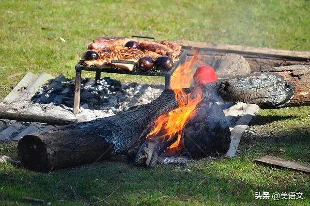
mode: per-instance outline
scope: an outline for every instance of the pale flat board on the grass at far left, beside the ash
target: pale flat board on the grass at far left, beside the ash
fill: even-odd
[[[4,98],[5,102],[15,102],[20,100],[31,99],[48,79],[53,79],[53,76],[47,73],[32,74],[27,72],[25,77],[14,87],[9,95]]]

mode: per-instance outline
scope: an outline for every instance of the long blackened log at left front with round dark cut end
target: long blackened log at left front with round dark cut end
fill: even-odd
[[[177,106],[174,93],[167,94],[136,110],[26,135],[18,142],[18,157],[24,167],[48,172],[127,152],[152,121]]]

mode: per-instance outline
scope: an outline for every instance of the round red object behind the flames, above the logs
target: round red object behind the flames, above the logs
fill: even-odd
[[[194,74],[194,85],[202,85],[217,81],[217,74],[212,66],[200,66],[196,69]]]

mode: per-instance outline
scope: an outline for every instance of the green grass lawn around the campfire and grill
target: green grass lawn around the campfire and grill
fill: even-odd
[[[80,54],[98,36],[310,50],[309,0],[2,0],[0,11],[0,99],[27,71],[73,78]],[[15,73],[22,75],[8,78]],[[127,80],[158,82],[139,76]],[[310,107],[261,110],[250,129],[253,134],[244,135],[235,158],[201,159],[152,171],[115,161],[48,174],[1,164],[0,206],[30,205],[22,196],[52,206],[309,206],[309,174],[258,165],[253,159],[268,154],[309,164]],[[11,146],[0,143],[0,155],[16,157]],[[256,191],[303,192],[304,199],[255,200]]]

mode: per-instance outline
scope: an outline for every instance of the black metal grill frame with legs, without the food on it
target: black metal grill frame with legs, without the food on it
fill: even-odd
[[[153,37],[145,37],[145,36],[132,36],[132,38],[147,38],[147,39],[155,39]],[[95,83],[97,83],[97,80],[101,77],[101,72],[106,73],[116,73],[116,74],[125,74],[125,75],[142,75],[142,76],[157,76],[157,77],[165,77],[165,88],[169,88],[170,85],[170,78],[175,69],[182,63],[185,62],[186,59],[186,50],[181,49],[181,54],[179,55],[179,61],[174,63],[173,67],[168,72],[163,72],[159,70],[156,67],[153,67],[150,71],[143,72],[139,71],[139,68],[137,66],[137,63],[132,61],[124,61],[124,60],[112,60],[111,65],[104,66],[104,67],[96,67],[96,66],[86,66],[84,65],[83,61],[80,60],[76,66],[76,83],[75,83],[75,94],[74,94],[74,107],[73,107],[73,113],[77,114],[79,109],[79,102],[80,102],[80,89],[81,89],[81,73],[82,70],[84,71],[94,71],[96,72],[95,75]],[[115,63],[124,63],[124,64],[133,64],[134,69],[133,71],[124,70],[121,68],[118,68],[115,65]]]

